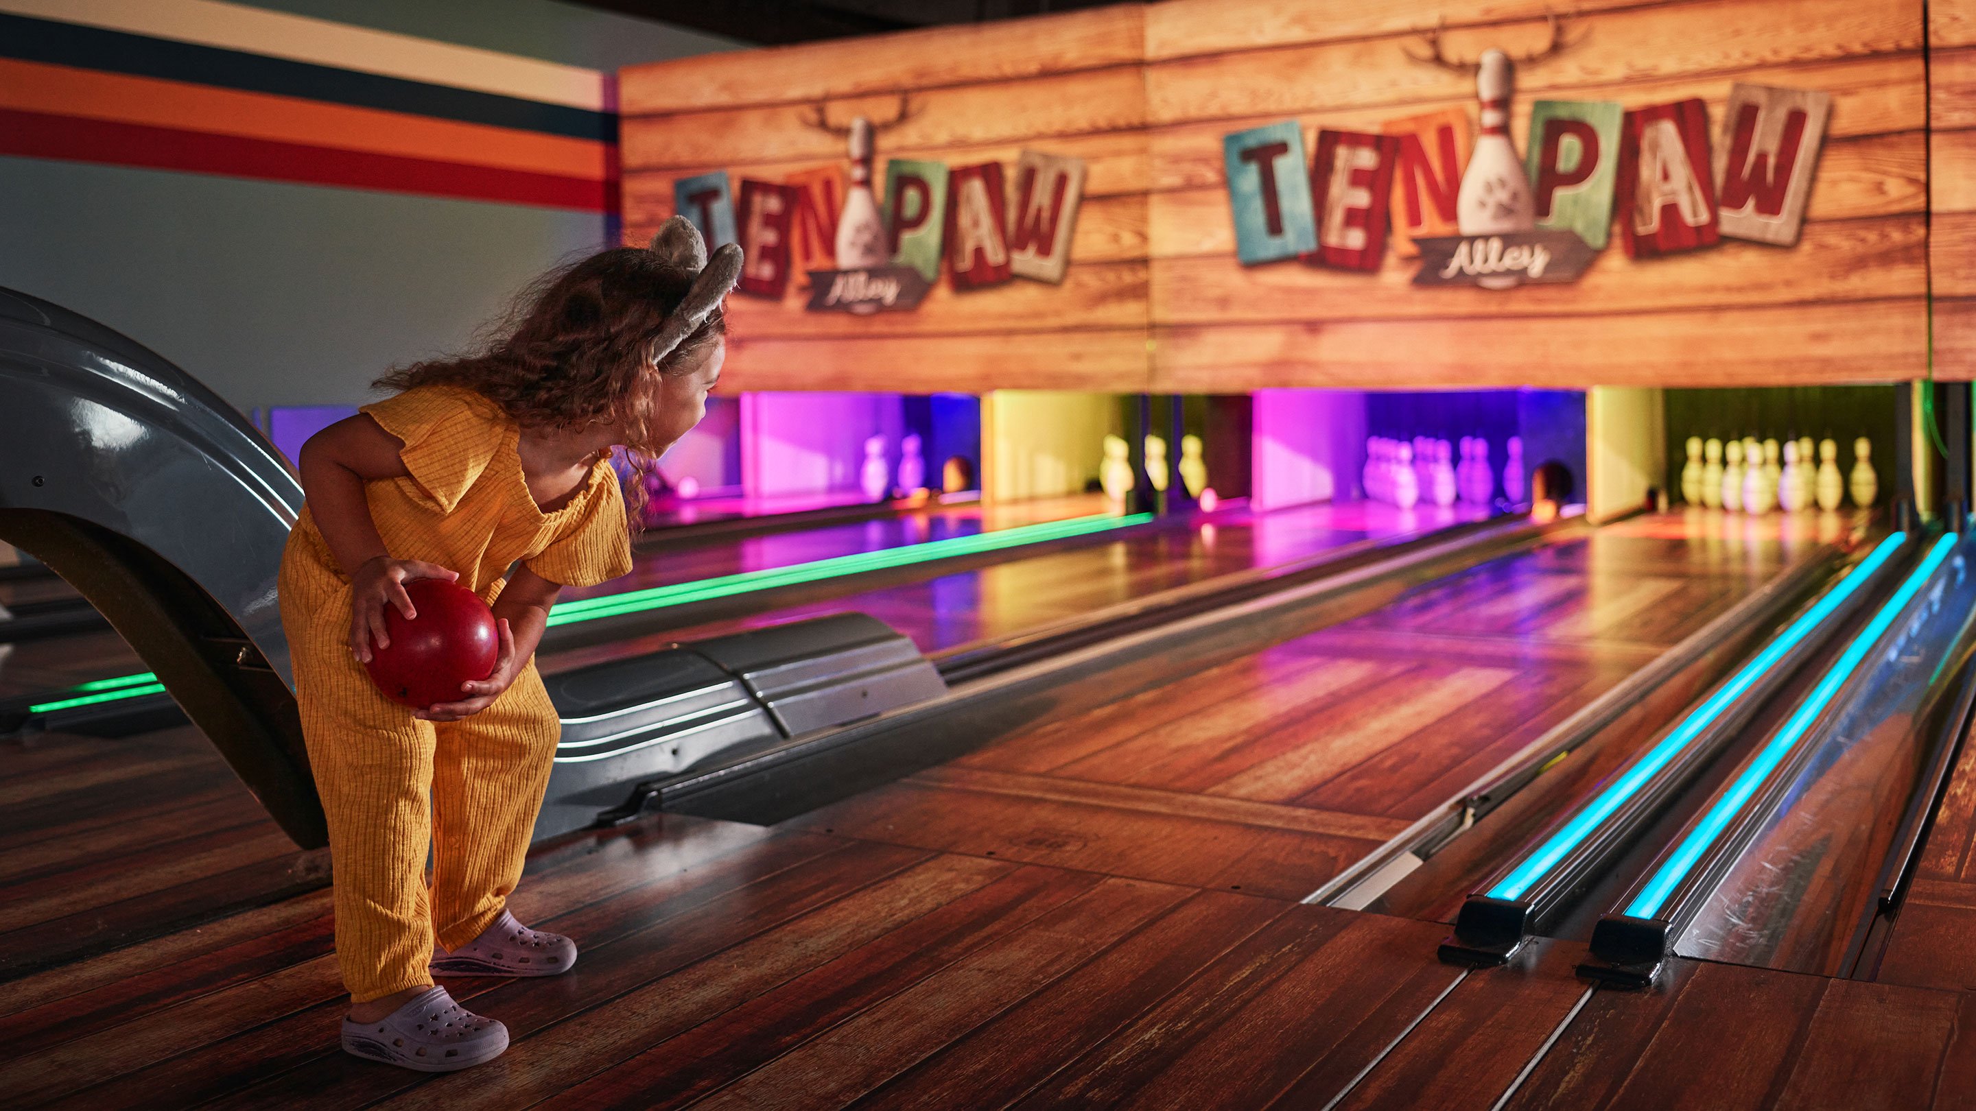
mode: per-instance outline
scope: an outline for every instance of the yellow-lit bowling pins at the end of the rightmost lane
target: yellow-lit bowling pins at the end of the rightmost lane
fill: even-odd
[[[1723,443],[1688,437],[1688,463],[1682,465],[1682,500],[1691,506],[1725,508],[1763,514],[1772,508],[1786,512],[1836,510],[1852,492],[1855,506],[1865,508],[1879,496],[1879,474],[1873,472],[1873,441],[1853,441],[1852,476],[1840,474],[1840,445],[1818,443],[1818,465],[1812,465],[1812,437],[1757,441],[1743,437]]]

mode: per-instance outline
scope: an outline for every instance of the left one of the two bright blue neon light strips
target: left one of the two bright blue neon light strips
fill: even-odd
[[[1638,795],[1640,789],[1660,773],[1660,769],[1668,767],[1674,757],[1682,755],[1682,751],[1691,745],[1695,737],[1721,718],[1723,710],[1727,710],[1737,698],[1743,698],[1743,694],[1749,692],[1749,688],[1755,686],[1765,672],[1774,668],[1786,652],[1796,648],[1800,641],[1810,637],[1814,629],[1832,617],[1832,611],[1844,605],[1848,597],[1871,579],[1873,571],[1891,559],[1895,550],[1899,550],[1905,542],[1905,532],[1895,532],[1887,540],[1881,540],[1879,548],[1873,548],[1873,552],[1867,554],[1857,567],[1848,571],[1846,577],[1832,589],[1828,589],[1826,595],[1812,605],[1812,609],[1804,611],[1790,623],[1788,629],[1772,637],[1770,642],[1765,644],[1763,650],[1757,652],[1757,656],[1753,656],[1747,664],[1743,664],[1743,668],[1735,672],[1729,682],[1721,684],[1721,688],[1717,688],[1707,702],[1693,708],[1688,718],[1682,718],[1682,722],[1666,737],[1662,737],[1660,743],[1648,749],[1638,763],[1587,803],[1577,816],[1565,822],[1547,842],[1523,858],[1523,862],[1518,864],[1514,872],[1504,876],[1500,884],[1490,888],[1488,897],[1518,899],[1523,892],[1549,876],[1551,868],[1557,868],[1557,864],[1587,836],[1591,836],[1595,828],[1624,807],[1628,799]]]

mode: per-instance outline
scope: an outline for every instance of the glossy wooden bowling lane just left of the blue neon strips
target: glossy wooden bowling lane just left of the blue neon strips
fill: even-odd
[[[1719,514],[1561,534],[792,824],[1302,897],[1810,542]]]

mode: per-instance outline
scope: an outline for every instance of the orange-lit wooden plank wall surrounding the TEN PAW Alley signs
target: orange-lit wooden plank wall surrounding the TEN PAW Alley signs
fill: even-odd
[[[1936,85],[1976,71],[1976,20],[1936,4]],[[1377,130],[1474,107],[1468,77],[1411,61],[1441,20],[1452,57],[1543,42],[1543,0],[1166,0],[871,40],[703,55],[622,73],[626,233],[672,210],[680,176],[775,178],[842,158],[802,125],[887,119],[879,158],[1012,162],[1022,146],[1091,164],[1063,287],[1016,281],[917,312],[850,318],[735,299],[737,389],[1160,389],[1267,385],[1723,385],[1919,378],[1927,350],[1929,97],[1919,0],[1583,0],[1577,43],[1518,73],[1522,148],[1539,97],[1628,107],[1701,97],[1711,130],[1735,81],[1834,95],[1802,241],[1725,241],[1632,263],[1610,245],[1575,285],[1413,289],[1377,275],[1235,261],[1221,136],[1282,119]],[[1944,12],[1946,8],[1946,12]],[[1946,59],[1946,61],[1944,61]],[[1940,162],[1976,164],[1976,95],[1940,93]],[[1950,121],[1956,121],[1950,125]],[[1956,138],[1960,136],[1960,138]],[[1976,168],[1976,166],[1972,166]],[[1976,300],[1976,174],[1935,180],[1960,235],[1936,295]],[[1956,217],[1968,223],[1958,223]],[[1968,302],[1948,302],[1956,322]],[[1952,332],[1962,348],[1970,338]],[[1152,338],[1148,354],[1148,336]],[[1960,350],[1960,348],[1958,348]],[[1968,368],[1972,360],[1962,358]],[[1942,370],[1952,376],[1952,368]],[[1960,376],[1966,378],[1964,370]]]

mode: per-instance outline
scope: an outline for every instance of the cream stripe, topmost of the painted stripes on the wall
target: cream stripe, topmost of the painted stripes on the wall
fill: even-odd
[[[219,0],[0,0],[0,12],[593,113],[617,109],[611,75],[597,69]]]

